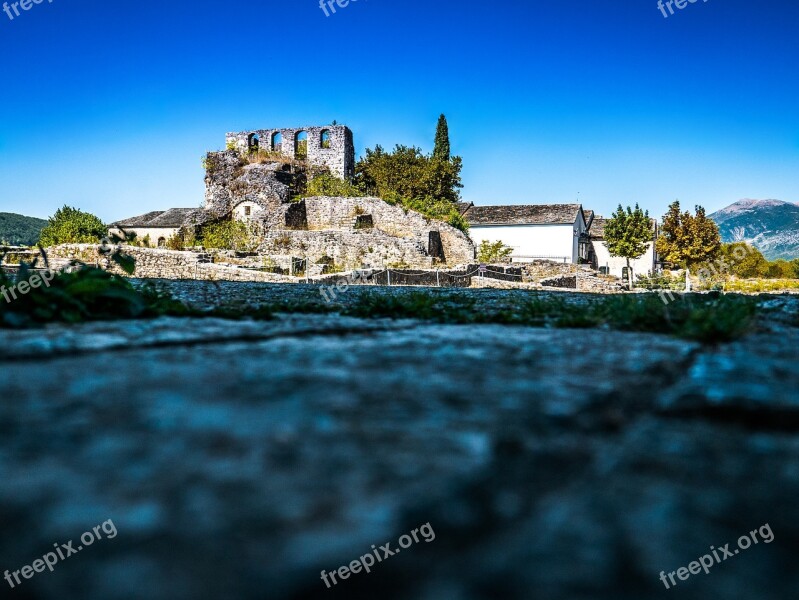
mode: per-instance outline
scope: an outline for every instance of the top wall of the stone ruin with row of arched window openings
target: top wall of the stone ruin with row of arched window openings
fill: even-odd
[[[227,143],[235,144],[240,151],[258,148],[292,158],[304,158],[311,165],[328,167],[341,179],[349,179],[355,173],[352,131],[344,125],[228,133]]]

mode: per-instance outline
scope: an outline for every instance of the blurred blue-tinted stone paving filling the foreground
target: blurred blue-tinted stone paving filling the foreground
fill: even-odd
[[[757,415],[796,414],[797,342],[335,316],[0,331],[0,567],[119,532],[6,592],[792,598],[799,428]],[[705,410],[722,404],[743,418]],[[427,522],[434,541],[325,588]],[[771,544],[659,581],[765,523]]]

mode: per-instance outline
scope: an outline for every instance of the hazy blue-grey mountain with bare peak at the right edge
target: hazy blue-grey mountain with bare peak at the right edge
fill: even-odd
[[[724,242],[749,242],[769,260],[799,258],[799,205],[739,200],[710,215]]]

